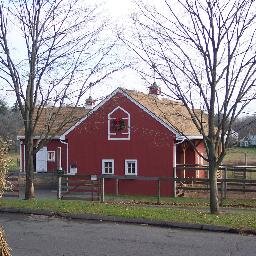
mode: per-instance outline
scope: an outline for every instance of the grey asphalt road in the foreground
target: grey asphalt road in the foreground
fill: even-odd
[[[0,214],[13,256],[256,255],[256,237]]]

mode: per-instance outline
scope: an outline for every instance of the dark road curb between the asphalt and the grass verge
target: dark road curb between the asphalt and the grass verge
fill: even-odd
[[[32,210],[28,208],[19,209],[19,208],[0,207],[0,213],[34,214],[34,215],[44,215],[48,217],[61,217],[61,218],[72,219],[72,220],[116,222],[116,223],[122,223],[122,224],[149,225],[149,226],[163,227],[163,228],[179,228],[179,229],[202,230],[202,231],[210,231],[210,232],[256,235],[256,230],[254,229],[237,229],[237,228],[229,228],[229,227],[223,227],[223,226],[215,226],[210,224],[154,221],[154,220],[146,220],[142,218],[129,219],[124,217],[102,216],[102,215],[96,215],[96,214],[94,215],[94,214],[57,213],[53,211],[35,210],[35,209]]]

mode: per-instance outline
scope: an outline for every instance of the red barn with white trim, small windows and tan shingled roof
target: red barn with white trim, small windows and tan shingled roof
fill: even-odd
[[[202,136],[189,113],[179,102],[159,99],[157,92],[150,90],[147,95],[118,88],[96,107],[80,112],[79,121],[65,127],[37,153],[36,171],[55,171],[58,154],[66,173],[109,177],[108,193],[115,192],[111,176],[117,175],[127,178],[120,180],[120,194],[155,195],[156,181],[135,177],[173,177],[177,163],[203,164],[195,150],[203,154]],[[177,175],[189,176],[184,171]],[[161,183],[161,194],[173,195],[172,182]]]

